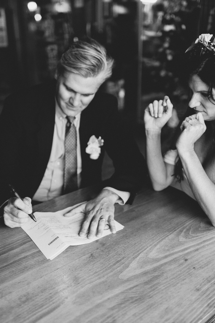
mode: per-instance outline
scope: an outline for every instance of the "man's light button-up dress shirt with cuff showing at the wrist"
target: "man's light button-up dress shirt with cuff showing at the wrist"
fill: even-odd
[[[79,137],[79,126],[80,126],[81,112],[75,116],[74,125],[77,130],[77,175],[78,175],[78,187],[81,183],[81,147]],[[37,192],[33,196],[34,201],[48,201],[57,196],[60,196],[63,191],[63,180],[64,180],[64,140],[66,130],[66,115],[59,108],[57,102],[55,104],[55,126],[54,135],[52,141],[51,154],[48,161],[48,165],[43,176],[42,182],[40,183]],[[89,138],[90,139],[90,138]],[[117,203],[124,204],[130,197],[129,192],[118,191],[112,187],[105,187],[110,191],[116,193],[120,198]]]

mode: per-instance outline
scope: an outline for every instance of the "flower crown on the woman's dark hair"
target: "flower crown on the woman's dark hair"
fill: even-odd
[[[199,48],[199,43],[201,44],[200,55],[205,54],[207,50],[215,54],[215,37],[210,34],[201,34],[199,38],[196,39],[195,43],[188,47],[185,53],[187,53],[191,49],[197,50],[197,47]]]

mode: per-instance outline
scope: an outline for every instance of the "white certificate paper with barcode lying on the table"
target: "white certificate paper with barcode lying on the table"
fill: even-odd
[[[79,204],[77,204],[79,205]],[[58,212],[35,212],[37,222],[28,221],[22,225],[22,229],[34,241],[47,259],[53,259],[70,245],[83,245],[101,239],[111,234],[110,225],[106,221],[101,238],[94,237],[89,240],[87,236],[80,237],[79,232],[85,214],[75,214],[65,217],[76,205],[70,206]],[[124,226],[115,221],[116,231],[122,230]]]

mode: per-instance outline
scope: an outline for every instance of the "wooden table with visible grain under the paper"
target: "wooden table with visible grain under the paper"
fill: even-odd
[[[34,207],[90,199],[82,189]],[[117,205],[123,230],[47,260],[0,219],[1,323],[205,323],[215,314],[215,228],[173,188]],[[214,321],[213,321],[214,322]]]

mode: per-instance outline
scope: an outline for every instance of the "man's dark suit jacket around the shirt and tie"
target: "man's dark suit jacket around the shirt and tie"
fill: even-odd
[[[10,95],[0,116],[0,188],[1,203],[10,197],[7,183],[19,194],[32,196],[37,191],[49,160],[55,123],[56,82],[40,84]],[[96,93],[81,112],[81,187],[101,182],[102,161],[106,150],[115,172],[103,183],[131,192],[128,203],[143,184],[145,160],[122,122],[117,100],[110,94]],[[95,135],[104,140],[97,160],[85,152],[87,142]]]

